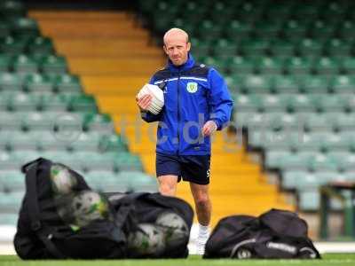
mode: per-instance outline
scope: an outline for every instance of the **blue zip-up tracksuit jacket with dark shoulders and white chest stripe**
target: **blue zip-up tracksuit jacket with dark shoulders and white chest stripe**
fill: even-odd
[[[164,91],[161,113],[142,113],[147,122],[159,121],[156,152],[177,155],[210,154],[210,137],[202,137],[206,121],[223,129],[230,120],[233,101],[223,77],[213,67],[196,64],[189,54],[182,66],[168,66],[150,80]]]

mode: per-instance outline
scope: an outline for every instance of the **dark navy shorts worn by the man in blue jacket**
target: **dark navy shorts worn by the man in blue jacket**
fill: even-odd
[[[156,153],[156,176],[178,176],[177,182],[209,184],[210,155],[172,155]]]

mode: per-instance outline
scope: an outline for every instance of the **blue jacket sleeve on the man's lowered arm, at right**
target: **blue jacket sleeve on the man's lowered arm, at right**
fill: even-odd
[[[209,115],[221,130],[231,119],[233,100],[224,78],[214,68],[209,70],[209,90]]]

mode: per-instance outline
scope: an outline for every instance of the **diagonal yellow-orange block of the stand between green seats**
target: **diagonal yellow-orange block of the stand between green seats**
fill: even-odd
[[[156,125],[140,120],[135,96],[150,75],[165,64],[162,49],[156,47],[146,30],[137,27],[137,20],[129,14],[31,12],[30,16],[51,37],[57,51],[66,55],[69,69],[80,75],[83,89],[96,98],[99,111],[113,117],[115,129],[127,137],[130,152],[140,155],[146,173],[154,175]],[[78,27],[72,27],[73,23]],[[235,137],[228,142],[223,134],[217,134],[215,139],[212,223],[236,212],[258,215],[270,207],[292,209],[277,189],[267,184],[260,167],[249,160],[234,140]],[[193,204],[188,184],[178,185],[177,196]],[[246,205],[247,201],[254,203]]]

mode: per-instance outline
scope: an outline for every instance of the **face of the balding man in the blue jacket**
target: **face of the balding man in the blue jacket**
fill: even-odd
[[[164,43],[164,51],[174,66],[185,64],[188,59],[191,43],[186,42],[185,35],[170,35]]]

